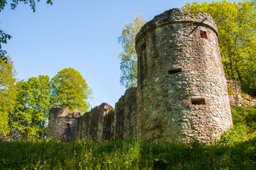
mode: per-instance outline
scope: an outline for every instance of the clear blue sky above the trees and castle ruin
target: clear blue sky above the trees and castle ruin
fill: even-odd
[[[8,2],[0,12],[0,28],[12,36],[3,49],[14,61],[17,78],[53,77],[73,67],[92,89],[93,108],[103,102],[114,106],[124,95],[117,58],[122,52],[117,38],[124,24],[131,23],[137,13],[151,20],[191,1],[55,0],[50,6],[41,0],[35,13],[22,3],[11,10]]]

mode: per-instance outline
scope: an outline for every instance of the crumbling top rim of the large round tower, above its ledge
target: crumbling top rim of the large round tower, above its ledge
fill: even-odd
[[[146,33],[152,29],[161,28],[174,23],[200,23],[201,26],[206,26],[213,30],[218,35],[218,28],[213,21],[213,18],[208,13],[191,13],[183,12],[179,8],[172,8],[164,13],[154,17],[151,21],[147,22],[136,36],[136,44]]]

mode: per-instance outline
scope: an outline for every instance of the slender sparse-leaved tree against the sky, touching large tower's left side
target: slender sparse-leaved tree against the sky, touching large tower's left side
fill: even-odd
[[[124,52],[118,57],[121,60],[120,84],[127,89],[137,86],[137,53],[135,50],[135,38],[139,30],[146,23],[146,18],[142,14],[137,14],[132,23],[126,23],[122,29],[122,35],[118,42],[122,44]]]

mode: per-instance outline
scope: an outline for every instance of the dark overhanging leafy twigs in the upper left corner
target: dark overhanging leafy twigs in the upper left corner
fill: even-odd
[[[35,0],[11,0],[11,9],[15,9],[16,6],[18,5],[18,2],[23,2],[24,4],[30,4],[33,12],[36,11],[36,1]],[[40,1],[40,0],[37,0]],[[47,4],[51,4],[53,5],[53,1],[52,0],[47,0],[46,1]],[[1,0],[0,1],[0,12],[2,10],[4,10],[4,7],[7,4],[7,0]],[[11,39],[11,35],[4,33],[3,30],[0,30],[0,60],[4,60],[7,61],[7,57],[5,57],[6,55],[6,50],[2,50],[1,49],[1,44],[6,44],[7,40]]]

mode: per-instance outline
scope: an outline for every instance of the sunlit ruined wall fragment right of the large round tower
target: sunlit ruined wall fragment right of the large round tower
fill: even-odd
[[[256,105],[256,98],[246,94],[241,87],[233,80],[227,80],[230,106],[253,106]]]

